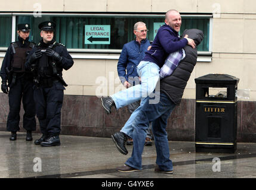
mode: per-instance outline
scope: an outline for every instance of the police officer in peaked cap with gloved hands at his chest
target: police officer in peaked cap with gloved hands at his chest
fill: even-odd
[[[67,48],[55,41],[55,23],[44,21],[38,27],[42,39],[29,53],[25,67],[34,74],[36,116],[42,132],[35,144],[50,147],[60,145],[63,90],[67,86],[62,71],[73,65],[73,59]]]

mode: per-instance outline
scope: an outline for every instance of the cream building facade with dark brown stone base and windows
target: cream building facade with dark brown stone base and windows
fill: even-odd
[[[164,23],[165,12],[177,9],[184,29],[203,30],[198,62],[187,83],[183,100],[168,120],[169,140],[195,140],[195,78],[229,74],[239,78],[238,141],[256,142],[256,2],[253,0],[0,0],[0,63],[17,24],[32,24],[30,40],[40,40],[38,24],[57,24],[57,42],[66,45],[75,64],[63,77],[62,134],[110,137],[129,118],[126,107],[106,115],[99,96],[121,90],[116,65],[122,46],[134,39],[133,25],[144,21],[153,40]],[[223,89],[212,89],[217,94]],[[8,97],[0,93],[0,129],[5,130]],[[21,113],[22,114],[22,113]],[[22,124],[22,123],[21,123]]]

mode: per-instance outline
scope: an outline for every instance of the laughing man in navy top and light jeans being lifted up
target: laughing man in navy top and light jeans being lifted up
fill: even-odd
[[[143,80],[146,80],[144,81],[144,84],[143,84],[144,87],[143,85],[141,85],[141,88],[142,89],[145,88],[146,90],[150,88],[150,91],[148,90],[147,93],[151,94],[155,89],[156,83],[159,80],[159,70],[164,65],[164,61],[170,53],[177,52],[178,50],[181,50],[186,45],[189,45],[195,48],[194,40],[189,39],[187,35],[184,36],[183,39],[180,39],[180,36],[178,35],[178,31],[180,31],[180,27],[181,27],[180,13],[176,10],[169,10],[168,12],[166,12],[165,25],[158,30],[158,33],[156,34],[156,37],[152,43],[151,49],[146,52],[145,58],[138,65],[138,73],[140,72],[142,75],[146,75],[146,77],[141,77],[141,83],[143,83]],[[147,83],[150,83],[148,85],[152,85],[151,83],[155,83],[155,84],[154,86],[152,85],[151,87],[148,87]],[[136,87],[136,85],[134,87]],[[135,89],[135,90],[141,90],[141,89],[139,87],[138,89]],[[133,93],[133,91],[123,90],[123,91],[119,91],[116,94],[113,94],[113,96],[111,97],[102,98],[104,109],[109,110],[111,109],[112,105],[116,106],[116,101],[114,102],[114,100],[117,100],[119,102],[118,103],[119,106],[125,105],[127,102],[129,102],[129,100],[126,101],[124,99],[124,97],[126,97],[125,95],[126,93],[128,93],[127,96],[131,97],[130,94]],[[141,97],[132,97],[131,102],[136,98],[140,99]],[[112,105],[111,105],[111,102],[112,102]],[[138,107],[132,113],[130,119],[121,129],[121,132],[118,132],[112,135],[113,141],[115,141],[117,144],[119,139],[124,139],[126,141],[127,137],[132,137],[132,134],[131,134],[132,129],[130,128],[131,126],[130,121],[134,121],[137,118],[140,108],[143,106],[143,103],[144,101],[141,100],[141,106]],[[116,108],[118,108],[119,106],[116,106]],[[128,153],[126,149],[124,150],[122,148],[118,148],[118,150],[121,151],[122,154]]]

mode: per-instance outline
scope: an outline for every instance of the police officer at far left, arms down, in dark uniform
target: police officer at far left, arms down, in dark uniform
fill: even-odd
[[[29,42],[29,24],[18,24],[18,40],[11,43],[2,62],[0,75],[1,90],[8,94],[10,112],[7,118],[7,131],[11,131],[11,141],[17,138],[20,122],[20,105],[23,103],[23,128],[26,129],[26,141],[32,141],[32,131],[36,130],[35,103],[33,101],[33,75],[26,72],[24,63],[35,43]],[[9,89],[10,88],[10,89]]]

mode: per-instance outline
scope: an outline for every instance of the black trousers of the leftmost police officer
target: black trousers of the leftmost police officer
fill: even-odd
[[[36,110],[33,100],[33,80],[28,80],[24,75],[16,78],[16,83],[10,85],[9,107],[7,118],[7,131],[20,130],[20,105],[23,103],[23,128],[27,131],[36,130]]]

